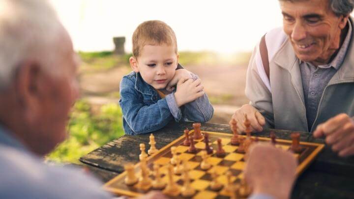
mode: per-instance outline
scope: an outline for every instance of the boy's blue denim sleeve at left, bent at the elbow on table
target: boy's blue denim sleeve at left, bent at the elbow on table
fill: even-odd
[[[120,82],[119,105],[130,129],[135,134],[143,134],[166,126],[173,119],[166,99],[146,105],[134,86],[134,81],[128,77],[123,77]]]

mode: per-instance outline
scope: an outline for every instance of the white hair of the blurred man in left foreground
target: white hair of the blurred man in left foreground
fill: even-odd
[[[22,62],[37,57],[51,60],[54,52],[48,48],[59,28],[47,0],[0,0],[0,90],[15,78]]]

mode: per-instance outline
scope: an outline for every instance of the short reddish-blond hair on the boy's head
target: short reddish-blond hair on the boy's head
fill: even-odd
[[[174,45],[177,54],[177,39],[175,32],[166,23],[158,20],[146,21],[140,24],[133,33],[133,56],[139,57],[145,45]]]

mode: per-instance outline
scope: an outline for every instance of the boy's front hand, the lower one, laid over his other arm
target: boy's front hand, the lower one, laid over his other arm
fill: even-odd
[[[175,92],[175,99],[178,107],[183,106],[188,102],[192,102],[204,95],[204,86],[202,81],[197,79],[181,78],[177,83],[177,91]]]

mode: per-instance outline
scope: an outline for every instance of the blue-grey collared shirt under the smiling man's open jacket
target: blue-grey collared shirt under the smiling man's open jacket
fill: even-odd
[[[333,75],[338,71],[346,56],[352,37],[351,23],[348,22],[348,26],[348,32],[343,44],[330,63],[314,66],[309,62],[299,60],[308,131],[311,131],[312,125],[315,122],[324,88],[328,85]]]

